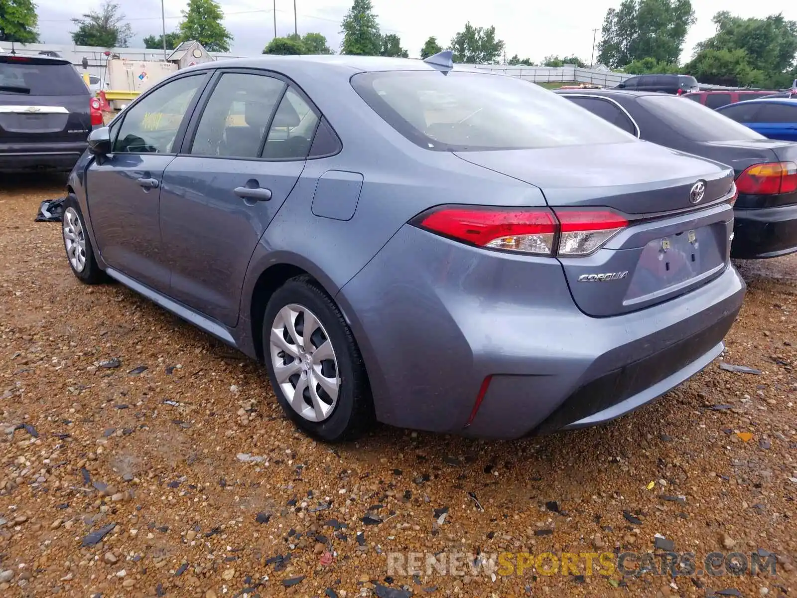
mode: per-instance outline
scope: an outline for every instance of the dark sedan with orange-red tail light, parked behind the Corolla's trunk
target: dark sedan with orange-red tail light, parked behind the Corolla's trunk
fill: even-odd
[[[729,164],[739,191],[733,258],[775,258],[797,250],[797,145],[768,140],[722,116],[752,100],[715,111],[654,93],[563,95],[642,140]]]

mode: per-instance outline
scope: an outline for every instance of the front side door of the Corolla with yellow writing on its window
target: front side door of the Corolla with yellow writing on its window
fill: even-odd
[[[169,289],[159,200],[163,171],[208,73],[168,81],[132,104],[112,125],[112,152],[86,173],[88,212],[104,261],[161,293]]]

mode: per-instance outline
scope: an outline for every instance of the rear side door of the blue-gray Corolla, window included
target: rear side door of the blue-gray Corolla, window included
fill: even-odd
[[[218,73],[163,175],[172,298],[236,325],[249,258],[296,185],[318,121],[302,92],[273,73]]]

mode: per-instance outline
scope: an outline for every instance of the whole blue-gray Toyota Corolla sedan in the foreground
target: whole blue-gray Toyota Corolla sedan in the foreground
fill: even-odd
[[[446,53],[200,65],[89,146],[76,276],[265,362],[320,439],[614,419],[717,357],[744,296],[730,168]]]

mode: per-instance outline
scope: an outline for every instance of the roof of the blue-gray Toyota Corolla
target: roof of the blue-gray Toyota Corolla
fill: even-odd
[[[313,69],[339,70],[348,75],[354,73],[370,73],[376,71],[438,71],[439,67],[414,58],[391,58],[383,56],[349,56],[347,54],[302,54],[300,56],[278,56],[267,54],[255,58],[235,58],[223,61],[206,62],[202,65],[189,67],[191,70],[218,69],[290,69],[292,66],[301,65],[306,72]],[[188,69],[182,69],[184,72]],[[479,69],[462,68],[455,65],[454,71],[468,73],[494,74]]]

